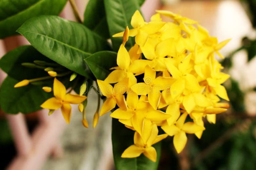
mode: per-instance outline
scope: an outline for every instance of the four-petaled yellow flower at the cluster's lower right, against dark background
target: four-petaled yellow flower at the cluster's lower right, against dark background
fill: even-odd
[[[193,122],[185,122],[188,113],[183,113],[176,124],[174,125],[164,125],[161,128],[170,136],[174,136],[173,144],[178,153],[180,153],[187,143],[186,133],[196,133],[198,131],[203,131],[204,126],[199,126]]]

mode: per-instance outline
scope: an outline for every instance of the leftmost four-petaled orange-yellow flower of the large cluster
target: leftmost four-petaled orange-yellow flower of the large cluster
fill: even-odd
[[[97,80],[102,95],[108,97],[101,107],[100,116],[114,109],[116,104],[119,108],[124,110],[127,109],[123,94],[127,91],[128,81],[129,79],[125,78],[124,80],[116,83],[113,88],[106,81]]]

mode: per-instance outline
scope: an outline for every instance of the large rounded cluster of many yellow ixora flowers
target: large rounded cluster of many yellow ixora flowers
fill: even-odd
[[[108,97],[100,116],[117,104],[119,108],[110,116],[135,131],[134,145],[123,152],[124,158],[143,153],[156,161],[152,145],[168,135],[174,136],[174,147],[180,153],[187,142],[186,133],[201,138],[203,117],[215,123],[216,114],[229,107],[219,103],[220,98],[229,100],[221,85],[229,75],[220,72],[223,67],[214,58],[215,53],[223,58],[219,50],[229,40],[218,43],[196,21],[169,11],[156,12],[147,23],[136,11],[131,20],[133,29],[127,27],[113,36],[123,37],[118,66],[104,81],[97,80]],[[163,22],[160,14],[173,22]],[[136,44],[128,52],[125,43],[129,36],[135,36]],[[144,74],[144,82],[139,80],[140,74]],[[166,134],[158,135],[157,126]]]

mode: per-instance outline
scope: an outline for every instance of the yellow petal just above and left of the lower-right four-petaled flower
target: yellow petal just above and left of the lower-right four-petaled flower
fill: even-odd
[[[179,103],[170,104],[166,109],[166,114],[171,115],[171,117],[167,119],[168,125],[171,126],[180,117],[180,104]]]

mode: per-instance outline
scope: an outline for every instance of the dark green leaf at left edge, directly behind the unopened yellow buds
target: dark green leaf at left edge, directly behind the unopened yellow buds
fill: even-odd
[[[24,62],[33,63],[34,60],[51,62],[51,60],[39,53],[33,46],[20,46],[6,53],[0,59],[0,68],[10,77],[20,81],[47,76],[47,72],[43,69],[27,68],[21,65]]]

